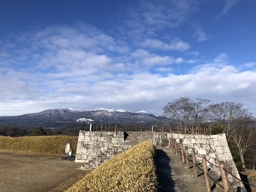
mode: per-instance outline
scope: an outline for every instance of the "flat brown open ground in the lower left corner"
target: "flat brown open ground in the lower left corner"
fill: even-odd
[[[83,163],[59,158],[0,150],[0,191],[64,191],[86,175]]]

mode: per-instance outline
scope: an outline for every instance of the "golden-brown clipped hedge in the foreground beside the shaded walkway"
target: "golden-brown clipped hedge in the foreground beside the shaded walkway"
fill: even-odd
[[[67,192],[157,191],[155,147],[145,141],[88,173]]]

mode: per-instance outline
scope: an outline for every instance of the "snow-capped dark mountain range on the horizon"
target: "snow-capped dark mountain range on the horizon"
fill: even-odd
[[[86,124],[152,124],[163,122],[165,117],[156,116],[146,111],[131,112],[124,109],[93,109],[82,111],[71,108],[49,109],[39,113],[19,116],[0,116],[0,125],[20,128],[73,128]]]

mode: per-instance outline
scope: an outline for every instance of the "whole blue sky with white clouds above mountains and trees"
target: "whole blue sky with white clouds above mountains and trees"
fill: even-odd
[[[0,1],[0,115],[145,110],[174,99],[256,115],[256,1]]]

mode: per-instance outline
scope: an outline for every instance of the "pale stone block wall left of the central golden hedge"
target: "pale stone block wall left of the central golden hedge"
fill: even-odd
[[[97,168],[131,147],[124,141],[124,132],[80,131],[75,162],[84,163],[81,169]]]

